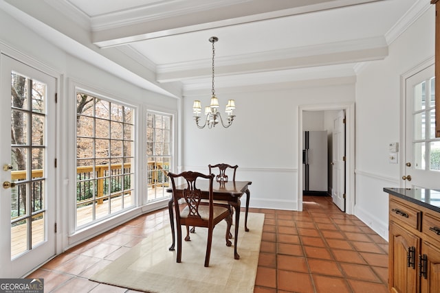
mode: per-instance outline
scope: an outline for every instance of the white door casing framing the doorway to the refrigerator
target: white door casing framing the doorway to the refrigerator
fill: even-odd
[[[305,144],[305,136],[304,132],[307,130],[311,130],[311,128],[319,128],[314,125],[313,122],[309,122],[309,120],[313,120],[314,115],[322,115],[324,116],[327,113],[328,117],[335,116],[336,113],[343,111],[345,114],[345,139],[344,143],[340,145],[338,148],[344,148],[344,165],[345,165],[345,176],[344,176],[344,209],[346,213],[353,214],[354,213],[354,103],[341,103],[341,104],[319,104],[319,105],[303,105],[298,107],[298,211],[303,211],[303,192],[305,190],[305,168],[303,167],[303,159],[304,152],[303,147]],[[333,115],[334,114],[334,115]],[[321,130],[321,129],[319,129]],[[335,150],[330,148],[330,152],[334,153]],[[342,158],[340,158],[342,161]],[[333,162],[333,161],[332,161]],[[331,165],[332,162],[329,162],[329,167],[333,167]],[[333,171],[329,170],[329,173],[332,174]],[[331,187],[333,187],[332,179],[329,178],[328,186],[329,190],[327,192],[331,192]],[[342,183],[343,184],[343,183]],[[332,194],[333,197],[333,194]],[[342,198],[342,194],[341,194]],[[333,197],[333,202],[335,202],[335,198]],[[335,202],[336,203],[336,202]],[[337,203],[336,203],[337,204]],[[340,207],[341,202],[339,202],[338,207]]]

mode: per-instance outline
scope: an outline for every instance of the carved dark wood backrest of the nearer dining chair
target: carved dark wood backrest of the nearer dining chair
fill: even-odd
[[[171,185],[173,186],[173,200],[175,204],[175,213],[177,218],[180,218],[180,210],[179,210],[179,199],[184,198],[186,204],[188,204],[188,215],[184,215],[185,218],[194,218],[195,220],[201,219],[201,215],[199,214],[199,204],[202,198],[201,190],[197,189],[197,179],[204,178],[209,180],[208,189],[209,189],[209,205],[210,205],[210,221],[212,221],[212,200],[214,198],[212,194],[212,183],[214,181],[214,174],[206,175],[201,174],[199,172],[186,171],[181,172],[180,174],[173,174],[171,172],[168,173],[168,176],[171,180]],[[176,180],[181,178],[183,184],[186,183],[186,188],[183,191],[178,192],[176,190]]]

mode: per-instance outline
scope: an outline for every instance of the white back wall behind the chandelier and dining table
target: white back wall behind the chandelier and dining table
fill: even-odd
[[[333,86],[319,84],[263,84],[241,92],[216,89],[222,109],[227,99],[236,101],[236,118],[228,129],[197,128],[192,101],[208,104],[210,91],[186,93],[181,169],[208,172],[210,163],[239,165],[237,180],[252,180],[251,207],[297,210],[298,167],[302,164],[298,162],[298,106],[354,101],[353,79]]]

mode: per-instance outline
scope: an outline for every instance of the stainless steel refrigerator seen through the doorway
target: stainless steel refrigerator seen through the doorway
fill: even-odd
[[[327,194],[328,147],[327,131],[303,132],[304,194]]]

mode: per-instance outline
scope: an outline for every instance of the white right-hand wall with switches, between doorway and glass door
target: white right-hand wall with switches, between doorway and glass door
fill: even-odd
[[[356,84],[355,215],[388,239],[388,195],[399,187],[400,165],[388,163],[388,143],[401,138],[401,75],[434,56],[434,5],[372,62]],[[400,160],[401,161],[401,160]]]

